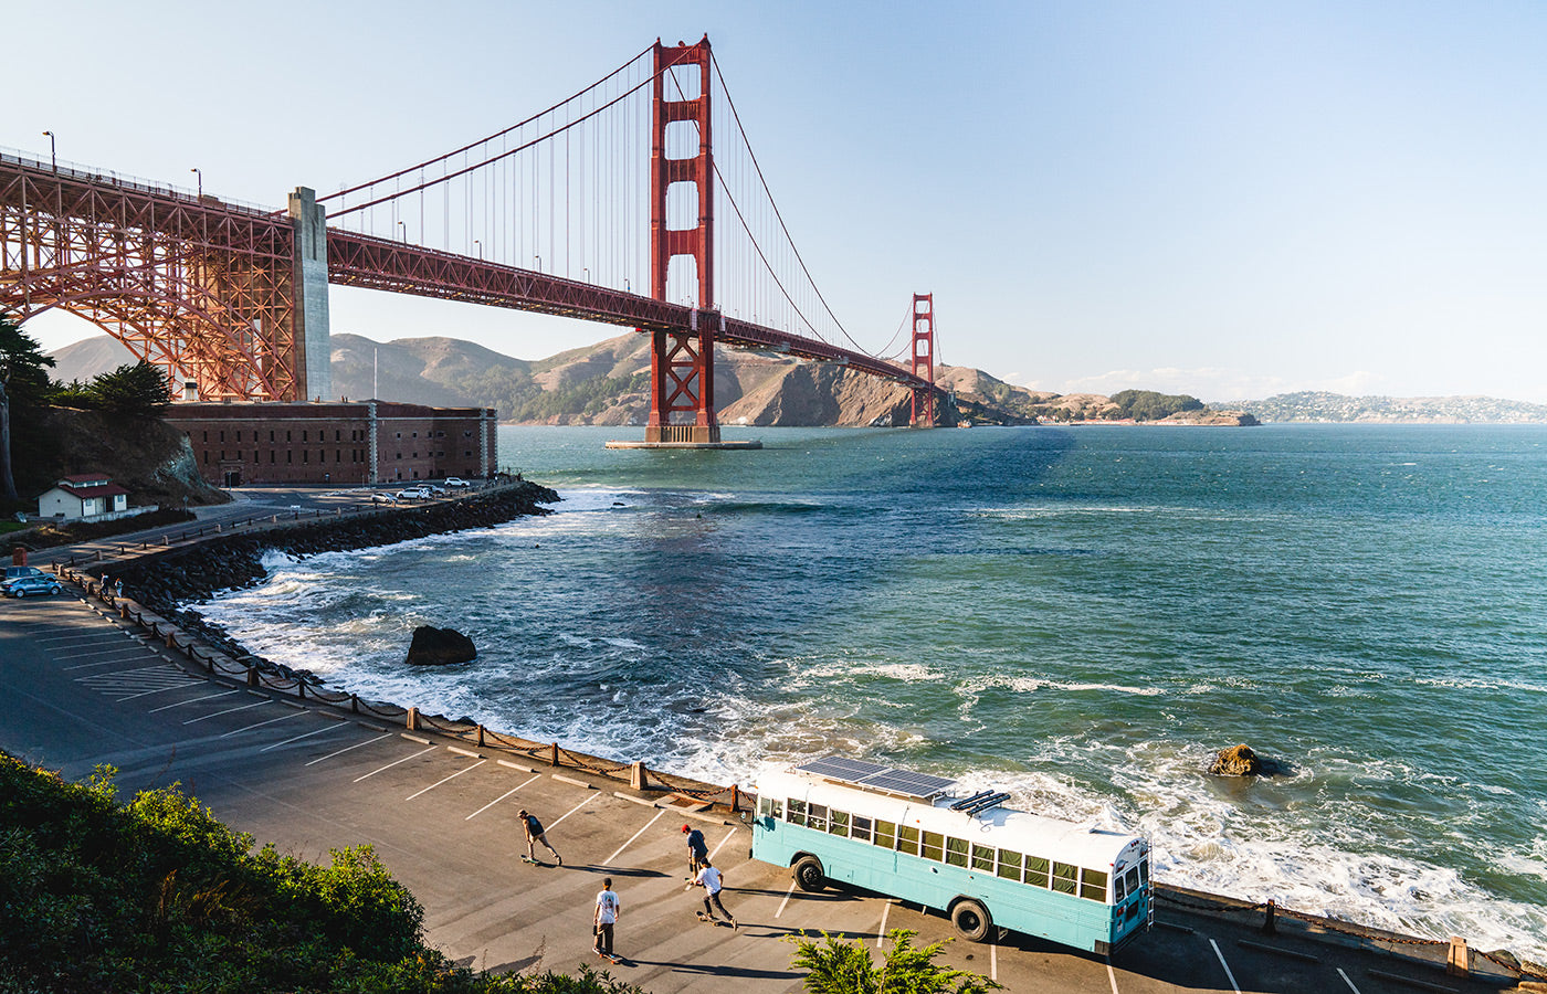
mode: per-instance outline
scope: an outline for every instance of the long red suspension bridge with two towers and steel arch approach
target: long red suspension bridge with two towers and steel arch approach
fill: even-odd
[[[340,284],[651,335],[647,442],[719,441],[716,343],[886,377],[911,390],[914,425],[934,424],[931,297],[880,352],[849,337],[707,37],[656,42],[446,155],[325,196],[299,187],[283,212],[0,155],[0,311],[85,317],[206,400],[331,397]]]

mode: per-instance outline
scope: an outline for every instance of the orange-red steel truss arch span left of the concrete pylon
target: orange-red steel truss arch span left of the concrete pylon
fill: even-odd
[[[84,317],[175,396],[305,399],[292,243],[285,216],[0,156],[0,309]]]

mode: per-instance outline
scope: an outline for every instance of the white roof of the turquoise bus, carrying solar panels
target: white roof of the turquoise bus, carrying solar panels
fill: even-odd
[[[953,812],[950,805],[962,798],[950,795],[937,795],[933,799],[896,796],[801,770],[763,776],[758,795],[825,804],[840,812],[914,825],[978,846],[1009,849],[1091,869],[1114,866],[1118,853],[1132,843],[1142,841],[1142,836],[1126,832],[1111,832],[1007,807],[993,807],[976,815]]]

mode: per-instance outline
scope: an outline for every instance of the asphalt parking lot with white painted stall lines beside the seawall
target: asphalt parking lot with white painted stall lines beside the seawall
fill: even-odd
[[[308,860],[371,843],[424,904],[429,941],[464,965],[602,965],[589,954],[589,921],[608,875],[622,900],[625,957],[610,969],[654,992],[721,992],[727,982],[746,994],[800,991],[792,946],[778,940],[803,929],[871,946],[891,928],[916,929],[922,941],[951,934],[942,915],[877,895],[794,890],[786,869],[749,858],[739,819],[656,807],[617,782],[207,679],[67,591],[0,601],[0,747],[67,778],[111,764],[122,795],[179,781],[260,844]],[[518,860],[521,807],[543,819],[563,867]],[[695,918],[684,821],[704,829],[739,931]],[[1033,994],[1515,989],[1504,977],[1445,975],[1434,962],[1443,949],[1433,946],[1391,955],[1286,918],[1269,937],[1261,920],[1163,901],[1156,929],[1109,962],[1013,934],[995,945],[953,941],[944,960]]]

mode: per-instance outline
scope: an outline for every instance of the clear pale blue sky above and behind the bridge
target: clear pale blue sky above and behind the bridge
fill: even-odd
[[[17,3],[0,145],[280,207],[709,32],[818,284],[1061,393],[1547,403],[1547,3]],[[17,96],[17,88],[20,96]],[[614,334],[334,291],[333,328]],[[97,334],[51,315],[57,348]]]

